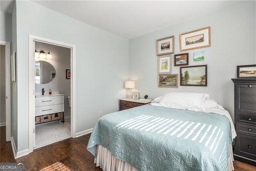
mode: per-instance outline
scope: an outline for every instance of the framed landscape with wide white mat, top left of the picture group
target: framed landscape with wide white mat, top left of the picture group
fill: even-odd
[[[174,36],[156,40],[156,56],[174,54]]]

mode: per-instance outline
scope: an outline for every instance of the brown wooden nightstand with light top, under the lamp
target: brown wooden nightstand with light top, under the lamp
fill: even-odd
[[[125,109],[130,109],[132,107],[138,107],[142,105],[146,105],[151,103],[151,100],[148,101],[142,101],[142,100],[137,100],[137,99],[120,99],[119,100],[119,111],[125,110]]]

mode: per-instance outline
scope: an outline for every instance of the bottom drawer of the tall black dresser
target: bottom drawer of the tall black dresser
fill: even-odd
[[[256,137],[237,134],[236,153],[256,159]]]

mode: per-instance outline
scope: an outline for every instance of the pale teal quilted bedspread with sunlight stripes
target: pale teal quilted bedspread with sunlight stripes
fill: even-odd
[[[230,122],[216,113],[144,105],[101,117],[87,149],[96,145],[141,171],[226,171]]]

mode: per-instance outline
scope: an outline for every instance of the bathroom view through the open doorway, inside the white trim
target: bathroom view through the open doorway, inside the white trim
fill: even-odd
[[[70,48],[35,43],[35,147],[71,137]]]

